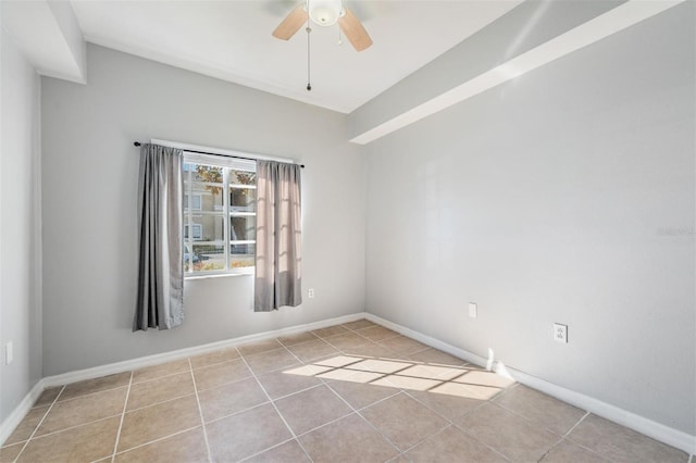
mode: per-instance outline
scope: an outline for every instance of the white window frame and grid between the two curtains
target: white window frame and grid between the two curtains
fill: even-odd
[[[194,215],[211,215],[211,216],[222,216],[224,217],[223,221],[223,239],[222,241],[220,240],[214,240],[214,241],[202,241],[202,240],[196,240],[194,239],[194,237],[191,236],[191,234],[189,233],[189,237],[184,239],[185,245],[188,247],[188,249],[191,250],[191,252],[189,253],[189,262],[188,262],[188,270],[184,271],[184,277],[185,278],[200,278],[200,277],[207,277],[207,276],[219,276],[219,275],[252,275],[254,273],[254,267],[253,266],[247,266],[247,267],[233,267],[231,265],[231,258],[232,258],[232,247],[235,245],[256,245],[256,240],[233,240],[232,239],[232,232],[231,232],[231,221],[232,217],[237,217],[237,216],[256,216],[256,210],[254,211],[244,211],[244,212],[238,212],[238,211],[234,211],[229,204],[229,197],[231,197],[231,190],[232,188],[246,188],[246,189],[256,189],[256,185],[244,185],[240,187],[237,186],[231,186],[229,184],[229,172],[231,171],[247,171],[247,172],[256,172],[257,171],[257,163],[253,160],[240,160],[240,159],[235,159],[235,158],[225,158],[225,157],[220,157],[220,155],[212,155],[212,154],[201,154],[201,153],[194,153],[190,151],[184,151],[184,163],[194,163],[194,164],[204,164],[204,165],[211,165],[211,166],[215,166],[215,167],[222,167],[223,170],[223,178],[222,178],[222,186],[223,186],[223,191],[222,191],[222,198],[223,198],[223,205],[222,208],[214,208],[213,211],[202,211],[202,210],[195,210],[195,209],[187,209],[184,211],[184,214],[186,215],[186,224],[194,224]],[[192,175],[194,172],[191,171],[185,171],[184,172],[184,176],[185,176],[185,188],[186,190],[184,191],[185,195],[195,195],[192,192]],[[190,197],[189,197],[190,198]],[[189,202],[190,205],[190,202]],[[202,205],[202,200],[201,200],[201,205]],[[222,209],[222,211],[221,211]],[[222,212],[222,213],[221,213]],[[190,232],[190,230],[189,230]],[[202,235],[202,226],[201,226],[201,235]],[[214,271],[195,271],[194,270],[194,262],[192,262],[192,252],[194,252],[194,243],[196,245],[212,245],[212,246],[223,246],[224,249],[224,254],[225,254],[225,264],[224,264],[224,268],[222,270],[214,270]],[[226,246],[225,246],[226,243]]]

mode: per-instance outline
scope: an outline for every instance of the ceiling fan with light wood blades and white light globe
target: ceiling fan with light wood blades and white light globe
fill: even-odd
[[[308,18],[320,26],[332,26],[338,23],[340,30],[357,51],[362,51],[372,45],[372,39],[360,20],[343,5],[341,0],[307,0],[298,4],[273,30],[273,37],[289,40]]]

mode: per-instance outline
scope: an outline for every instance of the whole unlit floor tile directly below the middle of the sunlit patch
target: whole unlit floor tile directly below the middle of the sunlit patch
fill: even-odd
[[[377,402],[361,414],[401,450],[448,425],[443,417],[405,393]]]

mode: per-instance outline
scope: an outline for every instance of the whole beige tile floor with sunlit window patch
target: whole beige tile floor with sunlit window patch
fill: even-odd
[[[1,462],[687,462],[369,321],[48,389]]]

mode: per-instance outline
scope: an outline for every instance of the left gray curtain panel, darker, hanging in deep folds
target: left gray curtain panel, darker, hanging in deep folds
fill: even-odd
[[[182,221],[184,152],[142,145],[138,187],[138,299],[133,330],[169,329],[184,320]]]

